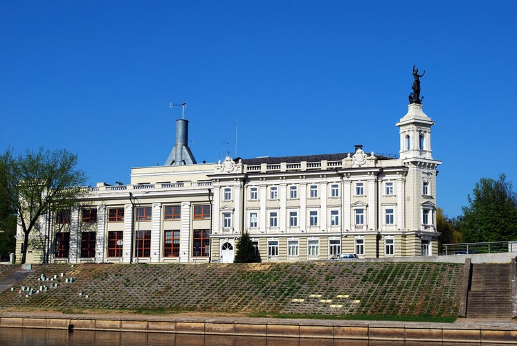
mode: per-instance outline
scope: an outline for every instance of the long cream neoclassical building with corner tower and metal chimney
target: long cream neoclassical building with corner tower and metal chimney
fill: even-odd
[[[165,165],[132,168],[129,185],[98,183],[72,210],[44,215],[27,262],[228,263],[243,232],[262,262],[436,254],[434,124],[410,103],[398,157],[356,145],[197,163],[188,121],[176,120]]]

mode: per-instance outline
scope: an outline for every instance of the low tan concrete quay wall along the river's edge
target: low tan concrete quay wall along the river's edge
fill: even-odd
[[[163,318],[106,316],[0,316],[1,327],[143,333],[257,336],[329,340],[383,340],[450,345],[515,344],[517,324],[508,321],[480,323],[426,323],[347,320],[278,320],[269,318]]]

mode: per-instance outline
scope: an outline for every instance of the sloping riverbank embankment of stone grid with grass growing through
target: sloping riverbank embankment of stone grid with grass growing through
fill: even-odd
[[[300,262],[50,264],[33,269],[14,291],[0,294],[2,309],[457,316],[464,266]]]

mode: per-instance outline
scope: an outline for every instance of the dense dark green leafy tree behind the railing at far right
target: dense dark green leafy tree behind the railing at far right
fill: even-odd
[[[505,174],[498,180],[475,183],[469,206],[464,206],[461,230],[465,242],[501,242],[517,239],[517,194]]]

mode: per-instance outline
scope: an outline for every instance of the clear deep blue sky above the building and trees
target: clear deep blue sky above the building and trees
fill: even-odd
[[[169,104],[186,100],[198,162],[398,154],[415,63],[437,204],[457,216],[480,178],[517,186],[516,15],[498,0],[0,0],[0,149],[66,148],[90,185],[129,183],[165,163]]]

